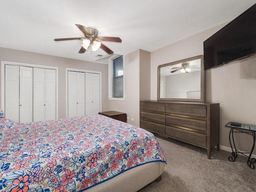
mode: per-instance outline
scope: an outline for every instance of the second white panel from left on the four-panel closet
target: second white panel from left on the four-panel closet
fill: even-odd
[[[33,68],[20,66],[20,123],[33,121]]]

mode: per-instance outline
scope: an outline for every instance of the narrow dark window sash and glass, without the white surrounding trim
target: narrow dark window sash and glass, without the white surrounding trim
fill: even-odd
[[[113,60],[113,92],[112,97],[124,97],[123,56]]]

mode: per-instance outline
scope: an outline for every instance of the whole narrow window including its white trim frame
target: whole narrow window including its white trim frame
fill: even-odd
[[[108,72],[108,98],[110,100],[124,100],[124,62],[122,55],[109,58]]]

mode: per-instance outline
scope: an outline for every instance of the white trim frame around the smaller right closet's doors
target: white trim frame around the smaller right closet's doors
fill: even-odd
[[[95,74],[99,74],[100,75],[100,111],[102,111],[101,72],[100,71],[90,71],[90,70],[74,69],[74,68],[66,68],[66,117],[68,117],[68,71],[95,73]]]

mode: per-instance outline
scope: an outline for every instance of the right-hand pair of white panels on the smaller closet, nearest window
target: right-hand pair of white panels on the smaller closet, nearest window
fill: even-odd
[[[85,73],[86,115],[100,112],[100,74]]]

